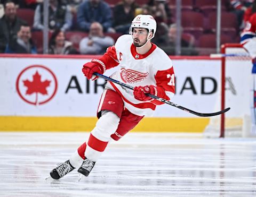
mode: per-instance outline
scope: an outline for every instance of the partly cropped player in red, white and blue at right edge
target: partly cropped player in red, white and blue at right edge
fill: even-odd
[[[251,132],[256,135],[256,13],[252,14],[246,23],[241,34],[241,44],[252,57]]]

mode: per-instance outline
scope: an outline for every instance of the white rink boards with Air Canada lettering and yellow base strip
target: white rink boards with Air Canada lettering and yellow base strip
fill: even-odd
[[[105,81],[87,81],[82,65],[95,56],[1,55],[0,131],[90,131]],[[172,102],[202,113],[220,110],[220,59],[171,57],[176,93]],[[226,71],[230,118],[249,114],[250,65]],[[110,75],[115,68],[107,71]],[[134,131],[203,132],[209,118],[158,106]]]

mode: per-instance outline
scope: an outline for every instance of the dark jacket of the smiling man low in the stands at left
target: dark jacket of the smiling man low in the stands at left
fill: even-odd
[[[36,46],[30,39],[26,45],[22,40],[14,37],[5,49],[5,53],[17,53],[17,54],[37,54]]]

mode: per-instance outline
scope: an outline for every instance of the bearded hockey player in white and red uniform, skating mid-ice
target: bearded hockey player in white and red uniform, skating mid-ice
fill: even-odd
[[[151,15],[138,15],[131,24],[131,35],[118,38],[115,46],[99,59],[83,65],[87,79],[95,80],[93,73],[103,74],[111,67],[119,66],[111,78],[134,86],[125,89],[112,82],[106,84],[98,107],[98,122],[91,131],[87,142],[50,175],[59,179],[78,168],[88,176],[95,162],[106,149],[110,139],[119,140],[132,130],[144,116],[153,114],[162,102],[145,95],[170,100],[174,95],[174,71],[171,59],[151,43],[156,33],[156,21]]]

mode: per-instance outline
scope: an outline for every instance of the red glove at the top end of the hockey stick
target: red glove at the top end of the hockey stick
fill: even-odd
[[[93,76],[93,73],[103,74],[106,71],[105,64],[99,59],[93,59],[92,62],[88,62],[83,65],[82,72],[88,80],[96,80],[98,76]]]

